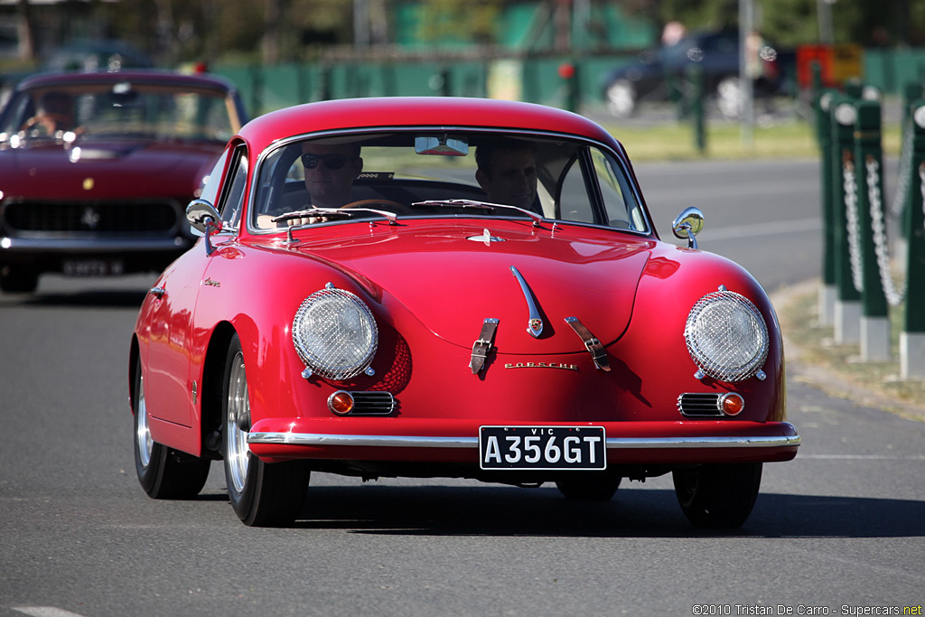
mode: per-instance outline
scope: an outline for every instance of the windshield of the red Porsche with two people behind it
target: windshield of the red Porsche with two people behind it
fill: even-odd
[[[327,193],[338,184],[332,200]],[[477,130],[351,134],[287,142],[265,155],[250,225],[286,227],[280,216],[349,204],[351,218],[377,216],[363,208],[400,217],[533,215],[648,232],[634,187],[595,142]]]

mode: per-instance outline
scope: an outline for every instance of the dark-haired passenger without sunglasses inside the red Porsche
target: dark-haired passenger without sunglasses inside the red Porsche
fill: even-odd
[[[530,142],[487,142],[475,151],[475,180],[491,204],[536,211],[536,154]]]

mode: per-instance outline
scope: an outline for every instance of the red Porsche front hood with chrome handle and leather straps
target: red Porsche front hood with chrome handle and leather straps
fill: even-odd
[[[565,323],[577,317],[604,344],[618,339],[633,313],[635,290],[652,241],[568,228],[550,232],[503,221],[402,228],[379,237],[305,242],[297,251],[337,263],[365,285],[393,295],[443,339],[471,348],[482,322],[499,319],[495,343],[505,353],[580,352]],[[377,234],[376,234],[377,236]],[[614,242],[614,238],[625,241]],[[592,238],[592,239],[589,239]],[[527,332],[523,276],[544,322]]]

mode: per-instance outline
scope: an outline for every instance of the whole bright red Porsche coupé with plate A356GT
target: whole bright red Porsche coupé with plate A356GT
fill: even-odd
[[[330,197],[343,192],[340,206]],[[341,207],[342,206],[342,207]],[[312,472],[555,483],[609,500],[673,475],[738,526],[796,456],[771,302],[660,241],[611,135],[539,105],[301,105],[228,142],[130,344],[136,468],[189,498],[222,460],[245,524],[302,514]]]

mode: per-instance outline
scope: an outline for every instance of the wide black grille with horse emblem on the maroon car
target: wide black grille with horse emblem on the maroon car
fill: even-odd
[[[129,202],[13,202],[3,209],[10,234],[171,233],[180,204],[173,200]]]

